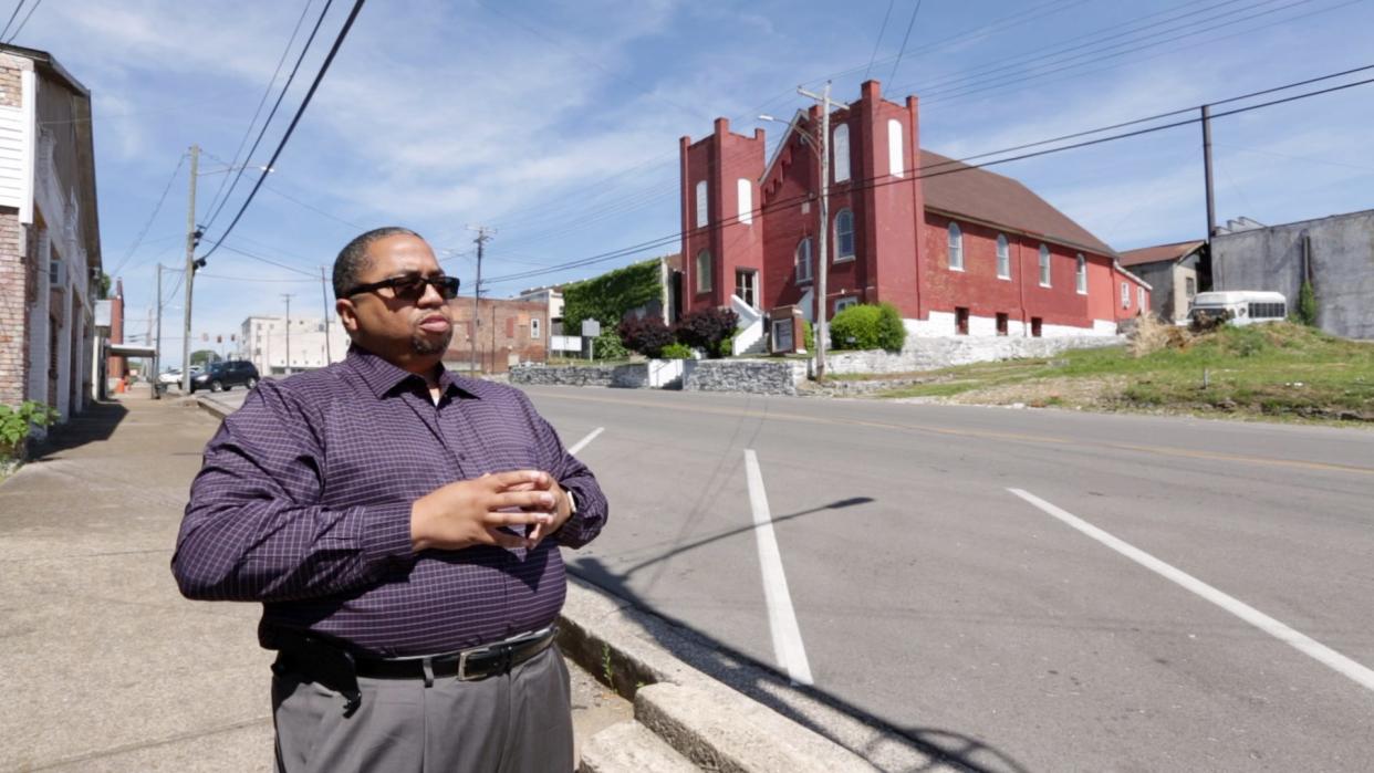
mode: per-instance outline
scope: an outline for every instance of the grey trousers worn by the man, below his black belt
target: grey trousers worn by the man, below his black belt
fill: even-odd
[[[550,647],[508,674],[460,682],[359,678],[363,703],[291,671],[272,678],[276,770],[569,773],[567,667]]]

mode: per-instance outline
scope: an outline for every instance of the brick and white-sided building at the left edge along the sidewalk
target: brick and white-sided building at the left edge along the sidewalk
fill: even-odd
[[[91,93],[32,48],[0,45],[0,404],[65,422],[98,380]]]

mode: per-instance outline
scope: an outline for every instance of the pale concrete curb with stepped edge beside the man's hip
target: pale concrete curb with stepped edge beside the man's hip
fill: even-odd
[[[706,770],[878,770],[842,746],[699,671],[672,648],[699,647],[679,629],[569,578],[559,647],[633,699],[635,718]]]

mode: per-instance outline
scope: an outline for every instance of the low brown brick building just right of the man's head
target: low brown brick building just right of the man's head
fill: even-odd
[[[478,324],[473,325],[473,299],[453,298],[453,339],[444,365],[464,372],[473,367],[485,373],[504,373],[519,362],[548,360],[550,306],[547,301],[482,298]],[[475,334],[475,346],[474,346]]]

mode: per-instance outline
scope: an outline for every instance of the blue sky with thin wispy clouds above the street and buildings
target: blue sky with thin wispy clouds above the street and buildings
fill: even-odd
[[[350,5],[334,3],[253,163],[267,162]],[[914,5],[372,0],[225,246],[317,275],[357,232],[403,224],[470,291],[470,224],[497,229],[488,277],[676,233],[677,137],[701,137],[717,115],[746,133],[760,113],[786,117],[804,106],[797,84],[830,77],[852,100],[867,74],[890,99],[918,93],[922,146],[965,157],[1374,65],[1369,0],[923,0],[897,62]],[[300,47],[320,8],[48,0],[14,41],[52,52],[93,93],[104,265],[124,279],[133,331],[154,303],[154,266],[183,259],[185,166],[135,249],[179,157],[192,143],[207,154],[205,222],[225,177],[213,172],[234,158],[293,27],[305,19]],[[769,141],[782,129],[763,125]],[[1374,207],[1371,126],[1374,84],[1216,121],[1219,220]],[[995,170],[1117,250],[1205,231],[1197,126]],[[511,295],[665,251],[484,287]],[[283,292],[294,314],[320,314],[317,280],[220,250],[198,275],[196,338],[282,313]],[[166,299],[168,364],[180,358],[180,308]]]

